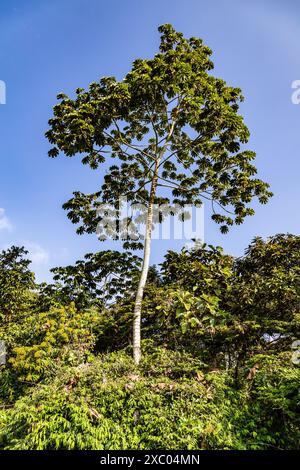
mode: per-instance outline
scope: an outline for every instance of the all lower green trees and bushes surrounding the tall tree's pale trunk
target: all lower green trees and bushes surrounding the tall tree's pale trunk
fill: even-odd
[[[93,259],[108,256],[116,254]],[[133,265],[133,283],[135,274]],[[45,302],[45,284],[32,285],[26,252],[16,247],[1,255],[0,279],[8,278],[1,449],[300,447],[300,367],[291,349],[300,334],[299,236],[257,238],[237,260],[199,244],[168,252],[145,291],[138,366],[134,289],[98,304],[83,283],[59,306],[60,279]],[[76,292],[90,295],[81,310]]]

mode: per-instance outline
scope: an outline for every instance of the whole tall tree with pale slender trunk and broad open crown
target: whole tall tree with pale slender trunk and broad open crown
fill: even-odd
[[[54,144],[50,157],[60,151],[68,157],[81,154],[92,169],[106,159],[114,162],[104,166],[98,191],[77,191],[64,205],[72,222],[81,222],[78,233],[96,231],[104,218],[101,203],[118,208],[118,200],[126,197],[146,207],[133,318],[136,363],[141,357],[141,309],[155,204],[183,207],[209,200],[212,219],[226,232],[253,215],[253,197],[266,203],[271,195],[268,185],[254,177],[255,153],[244,148],[249,131],[238,114],[241,90],[210,74],[211,50],[201,39],[185,39],[168,24],[159,32],[159,53],[135,60],[122,81],[104,77],[87,91],[78,89],[75,99],[58,95],[46,133]],[[138,245],[126,241],[125,247],[130,246]]]

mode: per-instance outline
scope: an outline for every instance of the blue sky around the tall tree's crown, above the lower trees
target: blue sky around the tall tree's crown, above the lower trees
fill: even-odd
[[[96,189],[101,173],[79,159],[47,157],[44,132],[56,95],[104,75],[122,79],[135,58],[157,51],[162,23],[201,37],[213,49],[214,74],[242,88],[249,148],[275,193],[228,235],[207,219],[206,242],[240,255],[255,235],[299,233],[300,105],[291,101],[291,84],[300,79],[299,2],[1,0],[0,7],[0,80],[7,86],[0,105],[0,248],[25,244],[38,280],[49,279],[50,267],[114,246],[76,235],[61,209],[74,190]],[[152,262],[179,247],[155,241]]]

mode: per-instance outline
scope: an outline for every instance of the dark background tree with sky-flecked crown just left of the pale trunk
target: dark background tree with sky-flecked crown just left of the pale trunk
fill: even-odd
[[[56,282],[40,285],[37,307],[48,310],[51,305],[74,302],[78,310],[84,310],[132,297],[140,267],[141,259],[130,252],[88,253],[74,265],[51,269]]]

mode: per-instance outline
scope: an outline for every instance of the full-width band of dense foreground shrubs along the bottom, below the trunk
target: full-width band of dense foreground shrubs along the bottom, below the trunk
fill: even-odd
[[[139,369],[124,351],[99,356],[2,412],[1,448],[297,448],[300,370],[255,360],[236,387],[186,353],[150,346]]]

